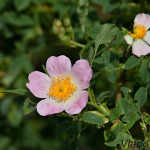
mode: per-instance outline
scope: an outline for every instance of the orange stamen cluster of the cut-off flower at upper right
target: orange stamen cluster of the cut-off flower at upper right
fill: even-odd
[[[134,27],[133,33],[129,32],[129,34],[135,39],[140,39],[145,37],[146,32],[145,25],[138,24]]]

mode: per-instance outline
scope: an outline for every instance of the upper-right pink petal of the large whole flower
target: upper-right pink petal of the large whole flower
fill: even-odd
[[[88,61],[84,59],[76,61],[72,67],[71,75],[79,85],[80,89],[88,88],[92,78],[92,69]]]

